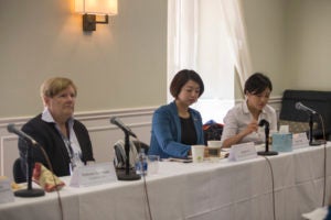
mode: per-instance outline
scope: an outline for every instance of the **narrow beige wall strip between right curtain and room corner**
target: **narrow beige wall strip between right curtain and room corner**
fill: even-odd
[[[273,96],[288,87],[284,80],[287,0],[242,0],[253,72],[268,75],[274,85]]]

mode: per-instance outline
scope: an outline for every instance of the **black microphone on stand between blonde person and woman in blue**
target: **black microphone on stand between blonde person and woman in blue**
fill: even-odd
[[[136,174],[136,170],[130,172],[130,141],[129,136],[137,138],[137,135],[131,131],[130,128],[125,125],[119,118],[117,117],[111,117],[110,118],[110,123],[116,124],[119,127],[124,133],[125,133],[125,152],[126,152],[126,170],[125,173],[118,173],[117,178],[119,180],[138,180],[140,179],[140,175]]]

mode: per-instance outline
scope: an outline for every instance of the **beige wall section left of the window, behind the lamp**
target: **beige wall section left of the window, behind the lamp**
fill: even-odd
[[[76,112],[166,102],[167,1],[118,0],[118,15],[93,33],[73,9],[74,0],[1,0],[0,118],[40,112],[51,76],[77,84]]]

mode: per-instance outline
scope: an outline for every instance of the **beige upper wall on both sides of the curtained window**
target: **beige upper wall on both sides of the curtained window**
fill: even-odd
[[[273,96],[330,90],[331,1],[242,1],[254,72],[271,78]],[[74,0],[1,0],[0,118],[40,112],[39,86],[56,75],[77,84],[76,112],[164,103],[167,0],[118,6],[110,24],[86,34]]]

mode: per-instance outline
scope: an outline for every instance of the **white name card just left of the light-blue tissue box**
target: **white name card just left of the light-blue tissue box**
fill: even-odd
[[[254,142],[232,145],[228,154],[229,161],[245,161],[257,157]]]

